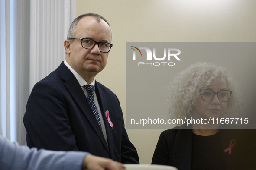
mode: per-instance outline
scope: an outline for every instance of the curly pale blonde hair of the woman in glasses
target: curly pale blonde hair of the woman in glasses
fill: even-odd
[[[169,115],[173,119],[188,119],[200,95],[199,90],[222,78],[227,80],[228,89],[232,91],[224,117],[234,114],[241,106],[238,100],[240,95],[237,93],[236,83],[228,76],[227,69],[213,63],[199,62],[180,72],[168,86],[170,97],[166,106]]]

